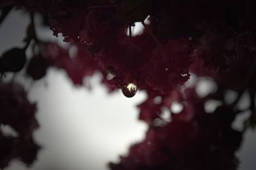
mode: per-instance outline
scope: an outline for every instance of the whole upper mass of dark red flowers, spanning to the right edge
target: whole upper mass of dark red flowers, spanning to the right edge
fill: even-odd
[[[193,72],[212,76],[223,84],[229,77],[225,85],[239,89],[235,87],[238,86],[236,80],[244,77],[243,73],[250,68],[248,64],[254,60],[255,4],[250,0],[13,3],[44,13],[54,35],[61,33],[65,41],[87,49],[100,65],[100,68],[95,65],[95,70],[110,70],[115,74],[115,79],[109,82],[112,89],[136,82],[138,89],[168,94],[188,80],[194,58]],[[218,9],[218,13],[214,9]],[[150,25],[142,35],[132,38],[126,35],[134,22],[143,22],[148,15]],[[244,60],[245,55],[248,64],[239,66],[238,75],[234,74],[230,68],[241,64],[240,59]],[[90,58],[87,54],[86,57]],[[77,79],[73,76],[73,80]]]

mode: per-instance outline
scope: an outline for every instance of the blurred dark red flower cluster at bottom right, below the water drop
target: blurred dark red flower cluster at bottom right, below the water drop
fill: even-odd
[[[145,139],[132,145],[118,164],[109,164],[111,169],[236,169],[234,153],[242,139],[231,128],[236,114],[229,106],[205,113],[205,99],[195,95],[195,89],[188,89],[183,111],[165,125],[150,126]]]

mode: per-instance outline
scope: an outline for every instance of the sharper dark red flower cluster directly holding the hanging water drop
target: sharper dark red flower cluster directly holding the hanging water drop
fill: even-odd
[[[16,1],[15,3],[31,11],[44,11],[49,17],[54,35],[63,34],[64,41],[75,43],[79,48],[84,48],[93,55],[101,66],[97,67],[93,64],[95,70],[113,69],[116,82],[112,85],[115,88],[120,88],[125,83],[136,82],[138,89],[147,88],[167,94],[189,78],[188,68],[193,63],[194,56],[191,55],[193,51],[191,43],[186,38],[169,41],[159,39],[157,34],[154,35],[151,25],[145,25],[147,31],[141,36],[131,37],[125,33],[129,27],[132,27],[132,22],[143,22],[149,15],[152,2]],[[143,9],[142,6],[147,6],[147,15],[145,11],[140,15],[140,11],[134,10]],[[87,58],[90,58],[90,55],[84,53],[84,59],[79,60],[79,64],[84,63],[89,66],[91,63],[88,63]],[[73,62],[71,59],[68,61],[67,57],[61,59],[63,63]],[[68,67],[63,68],[70,73]],[[78,70],[78,72],[83,71]],[[86,74],[69,74],[72,80],[76,80],[75,83],[81,83],[81,80],[77,80],[77,74],[81,76]],[[159,78],[159,75],[163,78]]]

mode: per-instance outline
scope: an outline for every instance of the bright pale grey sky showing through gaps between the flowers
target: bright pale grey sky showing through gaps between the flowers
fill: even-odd
[[[22,38],[28,16],[13,11],[0,25],[0,52],[23,46]],[[41,30],[41,39],[56,39],[49,30]],[[61,39],[57,39],[61,43]],[[144,138],[147,126],[139,122],[136,104],[146,98],[138,92],[131,99],[118,91],[108,94],[99,83],[100,75],[91,79],[92,90],[74,87],[63,71],[50,69],[44,81],[29,90],[29,99],[38,103],[36,117],[40,124],[34,136],[44,148],[30,170],[105,170],[109,161],[127,153],[129,146]],[[45,86],[47,85],[47,86]],[[256,134],[248,131],[239,152],[239,170],[256,167]],[[1,151],[0,151],[1,152]],[[5,170],[25,170],[17,160]]]

